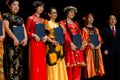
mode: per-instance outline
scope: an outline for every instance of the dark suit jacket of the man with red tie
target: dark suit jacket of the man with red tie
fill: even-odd
[[[103,33],[104,50],[112,55],[120,55],[120,29],[116,26],[116,37],[113,36],[110,26],[104,27]]]

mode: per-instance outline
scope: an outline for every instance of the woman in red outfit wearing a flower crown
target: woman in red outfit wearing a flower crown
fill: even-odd
[[[77,47],[72,41],[72,35],[80,34],[79,24],[74,21],[77,8],[74,6],[68,6],[64,8],[64,12],[67,17],[65,20],[60,21],[60,25],[64,32],[64,50],[65,50],[65,62],[67,67],[68,80],[80,80],[81,79],[81,67],[86,66],[84,62],[84,56],[82,49],[84,49],[85,43],[82,44],[81,49]],[[82,38],[82,40],[84,40]]]

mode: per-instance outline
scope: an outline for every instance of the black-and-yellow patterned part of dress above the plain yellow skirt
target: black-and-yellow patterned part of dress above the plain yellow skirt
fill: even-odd
[[[48,36],[55,40],[54,28],[59,27],[58,23],[52,21],[46,21],[46,30],[49,32]],[[47,64],[55,65],[59,59],[64,58],[63,45],[47,44]]]

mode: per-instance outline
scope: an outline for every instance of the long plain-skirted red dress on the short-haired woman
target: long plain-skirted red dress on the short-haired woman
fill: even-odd
[[[46,80],[46,49],[45,43],[36,41],[32,34],[35,34],[36,23],[44,24],[44,19],[33,14],[26,23],[26,30],[29,37],[30,51],[30,80]]]

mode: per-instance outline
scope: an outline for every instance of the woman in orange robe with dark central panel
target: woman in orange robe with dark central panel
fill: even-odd
[[[104,66],[102,61],[102,54],[101,54],[101,43],[102,39],[99,34],[99,30],[93,26],[94,17],[93,14],[89,13],[84,18],[85,27],[82,29],[82,35],[87,41],[87,46],[84,50],[85,58],[86,58],[86,78],[92,78],[94,76],[103,76]],[[90,35],[97,34],[99,44],[94,46],[90,41]],[[87,73],[87,74],[86,74]]]

